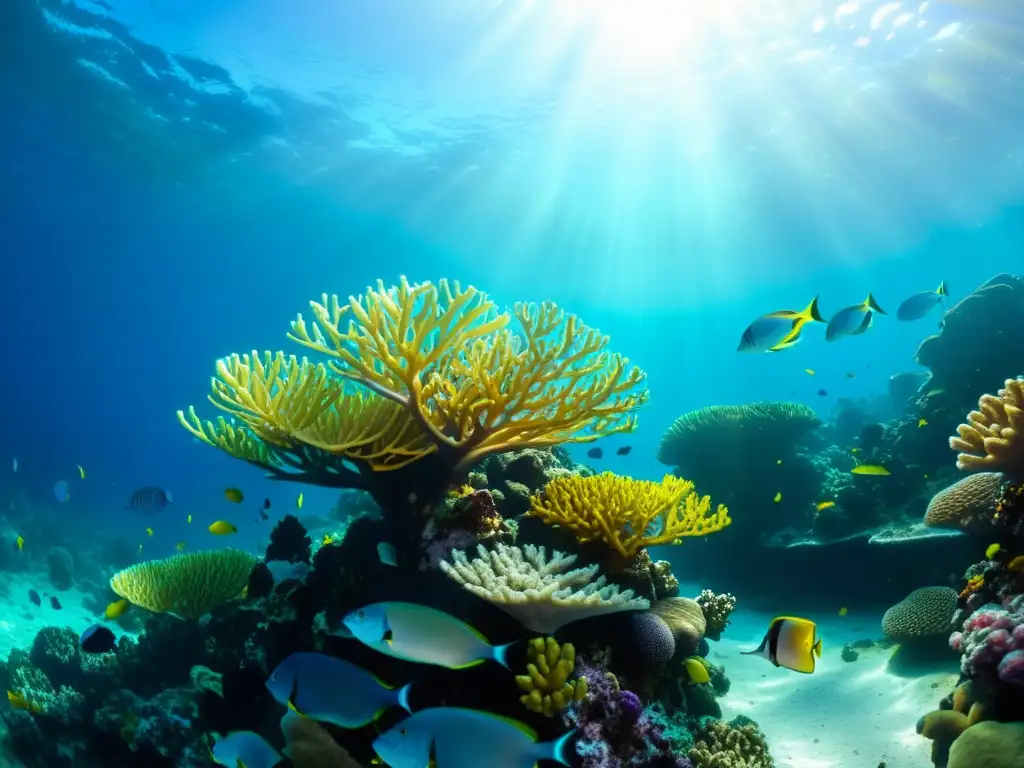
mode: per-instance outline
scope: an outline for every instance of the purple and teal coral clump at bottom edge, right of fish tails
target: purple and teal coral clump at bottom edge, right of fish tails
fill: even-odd
[[[687,758],[674,754],[640,697],[620,689],[614,675],[583,662],[575,674],[587,679],[587,700],[566,710],[563,719],[580,731],[583,768],[691,768]]]

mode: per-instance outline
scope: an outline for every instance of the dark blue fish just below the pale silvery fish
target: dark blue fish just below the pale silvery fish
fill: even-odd
[[[290,710],[342,728],[360,728],[392,707],[410,712],[412,686],[392,688],[351,662],[306,652],[290,655],[266,681],[270,694]]]

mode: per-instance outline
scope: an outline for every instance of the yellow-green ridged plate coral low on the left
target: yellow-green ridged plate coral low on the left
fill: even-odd
[[[199,618],[239,597],[258,558],[237,549],[206,550],[150,560],[111,579],[111,589],[155,613]]]

